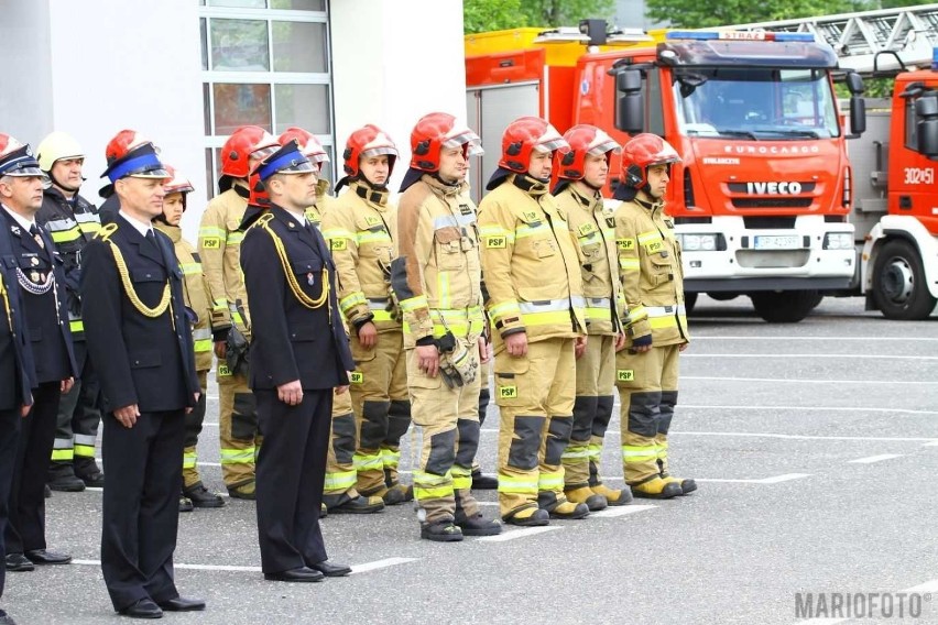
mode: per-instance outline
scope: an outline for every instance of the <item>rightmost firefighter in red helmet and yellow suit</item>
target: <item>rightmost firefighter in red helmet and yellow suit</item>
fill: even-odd
[[[636,497],[670,498],[697,490],[669,473],[667,432],[677,404],[678,354],[690,340],[684,270],[665,193],[680,156],[656,134],[637,134],[622,151],[615,199],[619,275],[630,327],[615,361],[625,483]]]

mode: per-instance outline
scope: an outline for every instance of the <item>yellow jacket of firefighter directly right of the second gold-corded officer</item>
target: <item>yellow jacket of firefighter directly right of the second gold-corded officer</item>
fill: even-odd
[[[397,256],[397,209],[388,191],[353,182],[323,212],[323,235],[329,242],[339,278],[339,307],[352,326],[368,320],[379,332],[400,332],[391,298],[391,261]]]

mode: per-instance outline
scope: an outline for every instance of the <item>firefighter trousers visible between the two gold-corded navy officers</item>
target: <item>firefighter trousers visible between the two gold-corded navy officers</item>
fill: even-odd
[[[261,447],[254,395],[248,379],[232,375],[218,363],[218,439],[221,445],[221,476],[229,489],[254,481],[254,459]]]

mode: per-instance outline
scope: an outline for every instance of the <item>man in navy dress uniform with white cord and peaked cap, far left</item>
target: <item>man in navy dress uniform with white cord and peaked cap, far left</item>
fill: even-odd
[[[43,174],[29,145],[12,150],[10,145],[8,141],[8,150],[0,156],[0,179],[29,178],[41,193]],[[0,235],[7,238],[10,250],[3,264],[13,270],[15,288],[22,296],[35,374],[33,405],[21,423],[4,531],[7,569],[21,571],[32,570],[33,564],[62,564],[72,559],[46,551],[44,491],[63,381],[76,372],[62,260],[52,239],[35,222],[41,196],[34,198],[32,190],[22,186],[14,190],[11,186],[29,183],[7,185],[0,196]]]

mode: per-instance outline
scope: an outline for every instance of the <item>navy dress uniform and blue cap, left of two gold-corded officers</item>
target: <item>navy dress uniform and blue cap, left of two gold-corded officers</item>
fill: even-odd
[[[109,145],[108,156],[106,174],[118,194],[127,176],[167,177],[150,143],[113,152]],[[199,384],[183,273],[170,239],[143,215],[153,217],[139,207],[121,208],[85,248],[81,297],[105,413],[101,570],[114,610],[159,617],[162,610],[205,607],[179,599],[173,573],[184,415],[195,406]],[[134,405],[139,416],[126,427],[114,413]]]

